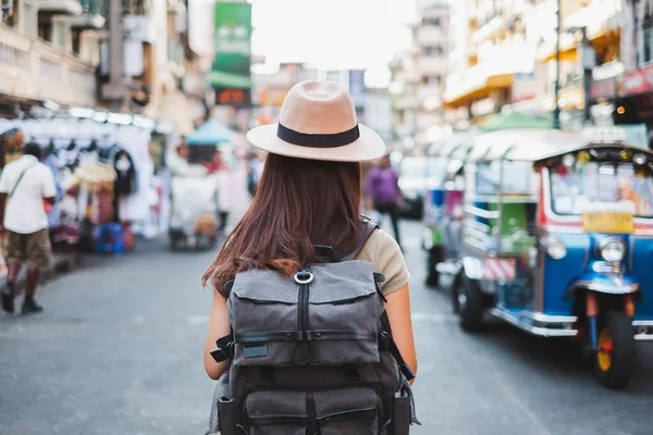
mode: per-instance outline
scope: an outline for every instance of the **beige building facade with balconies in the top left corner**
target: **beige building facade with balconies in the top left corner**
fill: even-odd
[[[4,0],[0,9],[0,107],[95,105],[103,0]],[[52,104],[49,104],[52,107]]]

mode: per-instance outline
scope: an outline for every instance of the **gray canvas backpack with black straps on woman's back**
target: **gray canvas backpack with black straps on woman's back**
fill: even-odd
[[[211,352],[218,382],[207,434],[405,435],[419,424],[372,264],[357,252],[291,277],[251,270],[230,282],[232,334]],[[317,246],[317,249],[330,248]]]

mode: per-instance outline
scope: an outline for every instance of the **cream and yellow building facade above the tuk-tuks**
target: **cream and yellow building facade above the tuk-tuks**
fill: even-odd
[[[562,126],[579,129],[593,122],[593,83],[623,70],[623,4],[624,0],[454,2],[446,121],[467,128],[502,111],[549,116],[556,108],[557,82]]]

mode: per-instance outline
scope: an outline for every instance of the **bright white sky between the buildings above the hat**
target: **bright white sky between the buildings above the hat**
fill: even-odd
[[[387,63],[407,48],[406,23],[417,0],[251,0],[252,51],[267,63],[306,62],[324,70],[365,69],[372,86],[387,82]],[[190,30],[211,50],[212,0],[192,0]]]

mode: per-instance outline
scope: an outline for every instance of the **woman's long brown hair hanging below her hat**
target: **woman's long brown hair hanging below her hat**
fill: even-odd
[[[273,269],[286,275],[321,260],[313,244],[341,254],[360,236],[360,164],[270,154],[249,210],[205,272],[224,297],[239,272]]]

